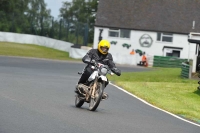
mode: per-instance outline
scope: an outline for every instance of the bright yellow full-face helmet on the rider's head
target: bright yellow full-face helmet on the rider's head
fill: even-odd
[[[107,54],[110,48],[110,42],[107,40],[101,40],[98,44],[98,50],[102,54]]]

